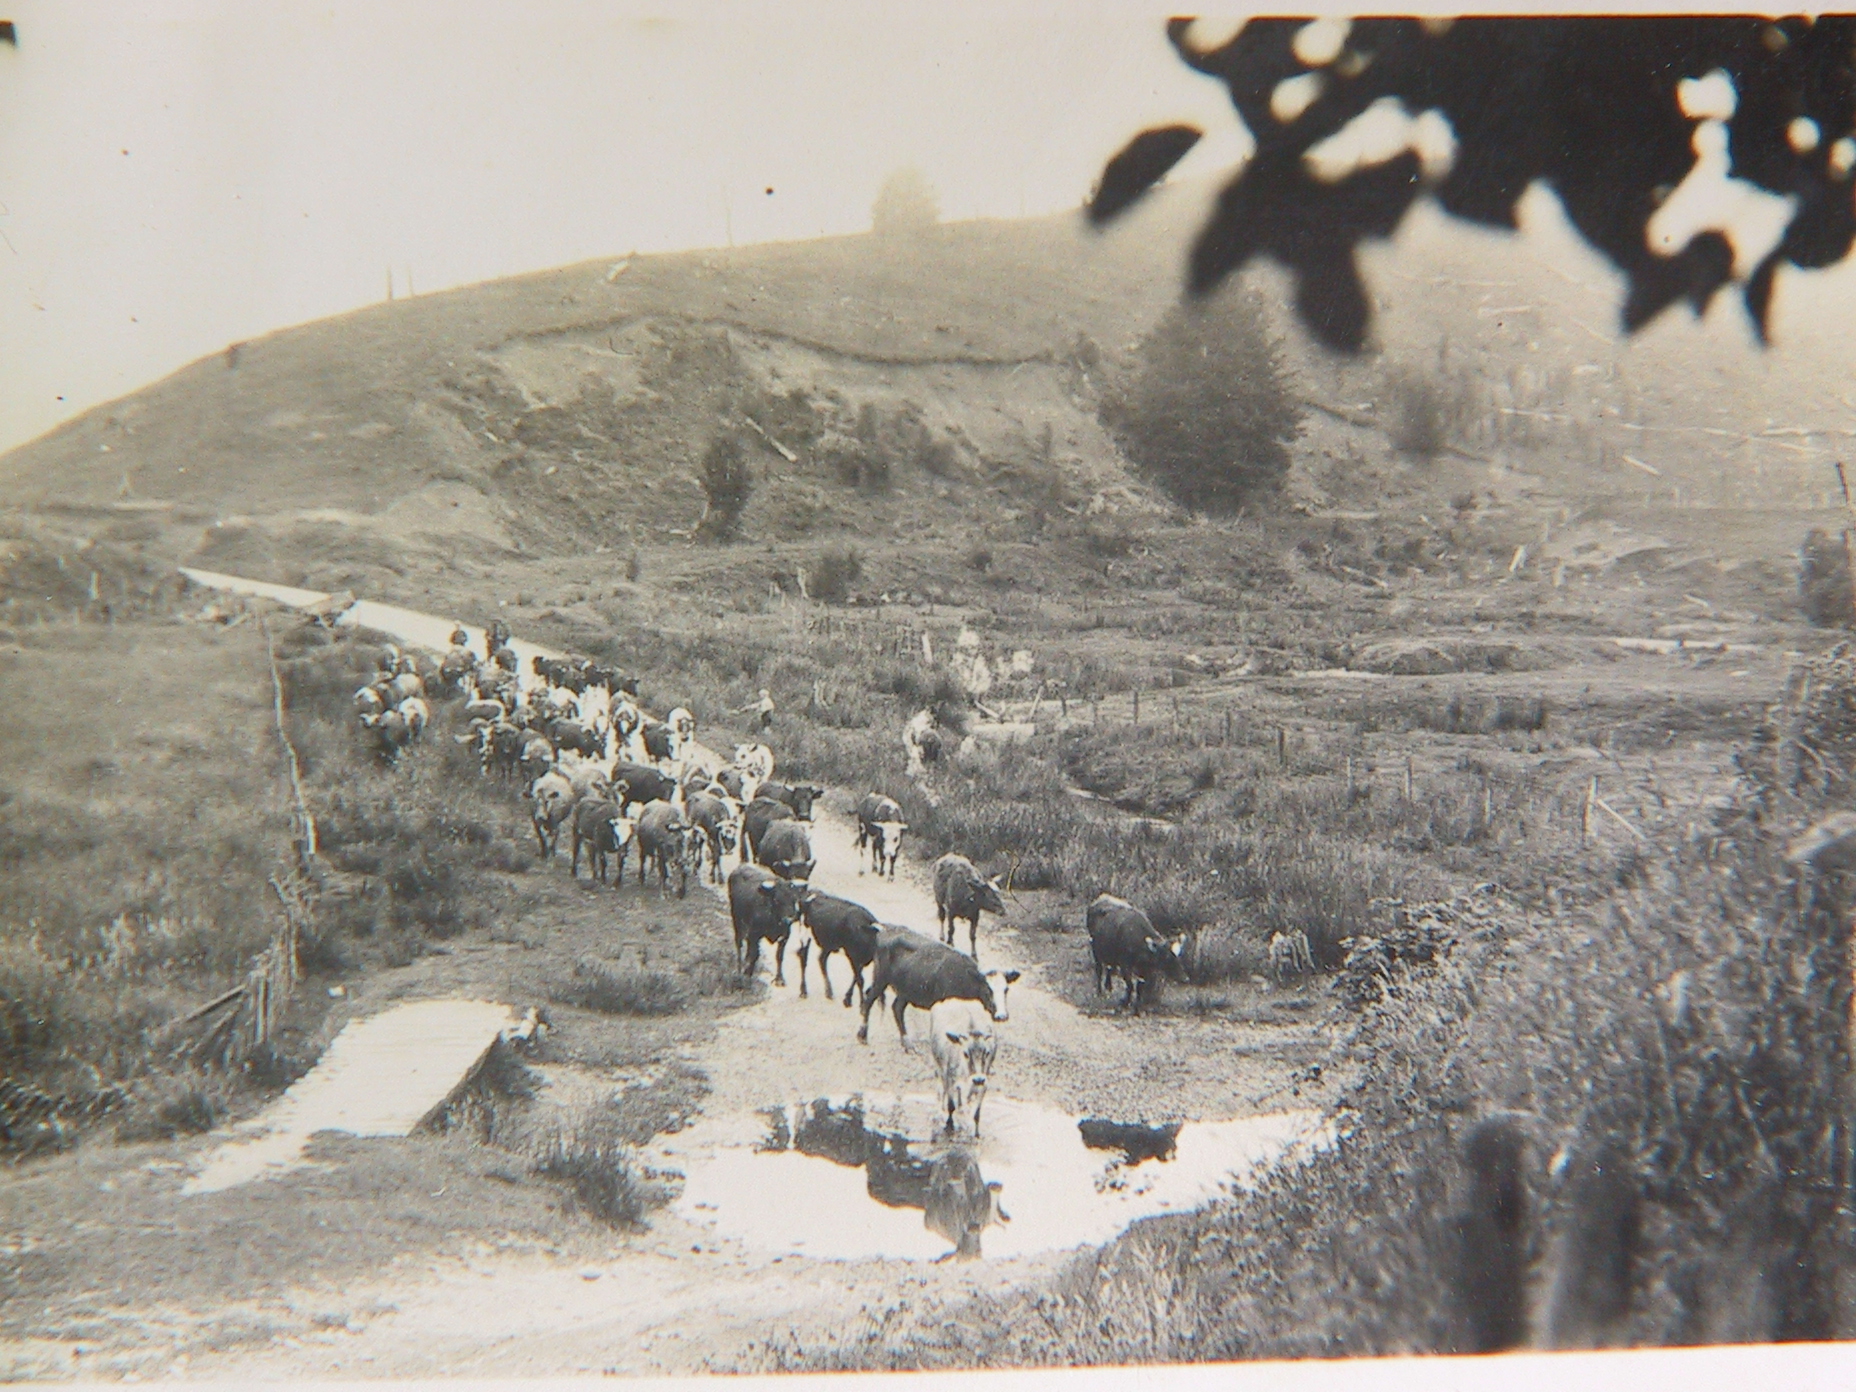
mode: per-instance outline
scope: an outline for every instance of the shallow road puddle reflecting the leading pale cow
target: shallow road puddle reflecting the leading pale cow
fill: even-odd
[[[1199,1208],[1321,1143],[1318,1112],[1153,1128],[995,1097],[978,1143],[939,1134],[939,1099],[846,1097],[703,1121],[664,1158],[685,1218],[759,1251],[824,1260],[1023,1257],[1101,1244]],[[1154,1143],[1169,1136],[1171,1145]]]

